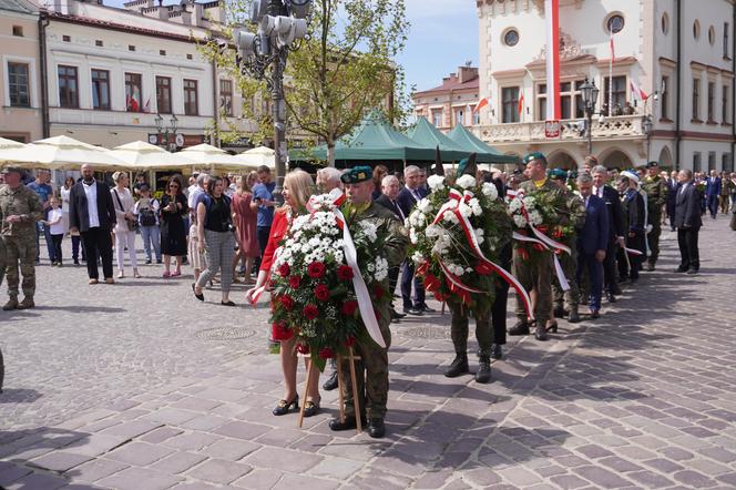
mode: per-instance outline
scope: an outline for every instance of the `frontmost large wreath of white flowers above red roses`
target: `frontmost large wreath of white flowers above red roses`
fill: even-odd
[[[346,262],[344,227],[334,196],[313,196],[311,213],[296,217],[274,261],[272,321],[283,338],[296,335],[297,350],[324,370],[326,359],[346,355],[356,339],[369,339]],[[360,222],[350,229],[360,275],[375,303],[390,300],[381,285],[388,262],[381,254],[388,231]]]

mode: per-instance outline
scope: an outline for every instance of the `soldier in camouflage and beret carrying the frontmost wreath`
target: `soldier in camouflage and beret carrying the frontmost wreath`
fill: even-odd
[[[341,181],[345,184],[351,210],[355,211],[351,215],[349,213],[346,215],[348,226],[354,227],[358,222],[366,220],[377,225],[388,222],[392,233],[391,238],[385,244],[386,258],[389,268],[401,264],[407,255],[409,238],[396,215],[371,201],[374,191],[372,170],[369,166],[356,166],[343,174]],[[388,289],[388,277],[385,283],[385,287]],[[372,438],[381,438],[386,433],[384,418],[386,417],[386,404],[388,401],[388,348],[391,345],[390,305],[381,305],[380,309],[376,309],[376,314],[386,348],[379,347],[372,340],[358,340],[355,349],[360,359],[356,360],[356,377],[360,407],[366,411],[368,419],[368,433]],[[355,429],[356,417],[358,416],[355,412],[352,400],[349,360],[343,359],[341,368],[343,378],[340,384],[343,386],[346,419],[345,421],[339,418],[330,420],[329,428],[331,430]],[[361,419],[364,418],[362,414],[359,414],[359,416]]]

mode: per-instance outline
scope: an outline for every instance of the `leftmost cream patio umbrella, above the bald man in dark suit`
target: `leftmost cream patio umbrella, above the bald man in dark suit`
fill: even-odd
[[[47,137],[20,149],[0,150],[0,162],[12,162],[25,169],[76,169],[85,163],[94,165],[96,171],[127,167],[110,151],[69,136]]]

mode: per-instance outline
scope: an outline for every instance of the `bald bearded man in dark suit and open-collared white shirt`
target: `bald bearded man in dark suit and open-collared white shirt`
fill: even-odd
[[[98,255],[102,259],[105,283],[114,284],[110,231],[115,222],[110,187],[94,180],[92,165],[82,165],[82,181],[74,184],[69,193],[69,228],[82,235],[90,284],[98,284],[100,278]]]

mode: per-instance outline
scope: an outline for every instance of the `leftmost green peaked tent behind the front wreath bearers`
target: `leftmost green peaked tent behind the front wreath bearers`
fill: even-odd
[[[310,154],[303,151],[289,153],[292,160],[327,160],[327,145],[317,146]],[[399,133],[377,111],[368,114],[351,136],[340,139],[335,145],[335,161],[403,161],[433,162],[435,145],[423,146]]]

